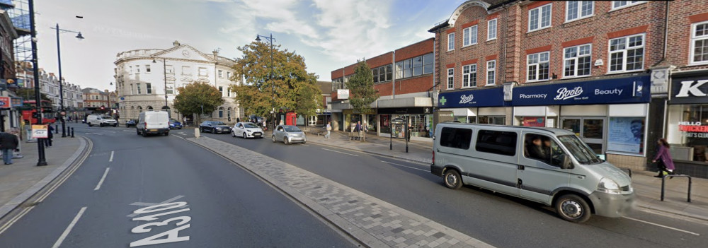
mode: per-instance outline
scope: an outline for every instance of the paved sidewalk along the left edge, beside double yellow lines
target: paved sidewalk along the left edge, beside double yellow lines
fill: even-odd
[[[84,138],[55,136],[45,148],[47,166],[37,166],[37,143],[20,141],[24,158],[13,158],[12,165],[0,165],[0,218],[40,191],[79,158],[87,146]]]

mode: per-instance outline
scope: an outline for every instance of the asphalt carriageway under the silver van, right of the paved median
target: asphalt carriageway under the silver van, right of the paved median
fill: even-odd
[[[193,136],[184,130],[183,137]],[[429,165],[268,138],[202,134],[282,160],[388,201],[496,247],[704,247],[704,222],[634,211],[627,218],[561,220],[552,208],[473,187],[450,190]]]

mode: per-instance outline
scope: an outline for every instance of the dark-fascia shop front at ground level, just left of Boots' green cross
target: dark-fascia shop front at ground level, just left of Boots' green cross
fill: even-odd
[[[393,132],[396,138],[404,138],[404,126],[392,125],[391,120],[408,120],[411,140],[432,141],[433,107],[379,108],[379,136],[388,137]]]

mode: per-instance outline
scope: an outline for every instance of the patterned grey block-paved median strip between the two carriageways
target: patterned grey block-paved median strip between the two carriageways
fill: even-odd
[[[187,138],[238,163],[367,247],[491,247],[445,225],[280,160],[214,138]]]

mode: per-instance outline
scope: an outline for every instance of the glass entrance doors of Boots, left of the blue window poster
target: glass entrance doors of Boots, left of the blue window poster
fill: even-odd
[[[596,154],[605,153],[603,140],[605,139],[605,118],[598,117],[566,117],[561,119],[561,128],[573,131]]]

